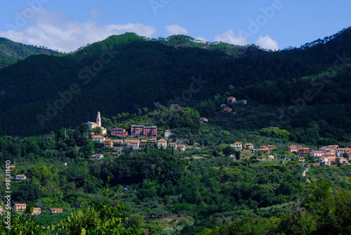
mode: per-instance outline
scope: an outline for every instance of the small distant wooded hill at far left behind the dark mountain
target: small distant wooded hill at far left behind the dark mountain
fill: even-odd
[[[39,54],[51,55],[55,53],[58,52],[44,48],[44,46],[25,45],[0,37],[0,68],[16,63],[28,56]]]

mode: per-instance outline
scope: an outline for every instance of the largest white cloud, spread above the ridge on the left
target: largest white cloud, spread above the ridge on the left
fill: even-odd
[[[156,29],[140,23],[126,25],[99,25],[92,21],[80,23],[65,13],[59,11],[49,13],[41,8],[30,21],[28,20],[27,27],[24,25],[17,31],[0,32],[0,37],[23,44],[47,46],[49,49],[69,52],[86,44],[101,41],[112,34],[124,32],[135,32],[140,36],[152,37]]]

